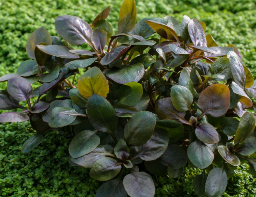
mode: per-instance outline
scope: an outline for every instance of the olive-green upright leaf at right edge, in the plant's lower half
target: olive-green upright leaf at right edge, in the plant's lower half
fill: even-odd
[[[239,144],[245,141],[253,134],[255,129],[255,116],[251,112],[246,112],[242,115],[238,128],[235,133],[234,143]]]

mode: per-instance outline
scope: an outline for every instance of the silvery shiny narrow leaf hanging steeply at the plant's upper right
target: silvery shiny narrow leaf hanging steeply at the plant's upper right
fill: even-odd
[[[245,69],[240,61],[234,56],[229,57],[229,66],[234,82],[242,89],[246,86]]]

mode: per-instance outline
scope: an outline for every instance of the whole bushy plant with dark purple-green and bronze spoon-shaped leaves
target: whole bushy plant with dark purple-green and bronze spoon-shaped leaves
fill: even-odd
[[[0,122],[29,120],[37,131],[22,152],[68,126],[75,133],[69,162],[106,181],[102,197],[153,197],[149,173],[175,178],[187,162],[203,169],[193,180],[198,196],[220,196],[245,162],[255,175],[256,84],[238,49],[217,46],[205,23],[187,16],[180,24],[170,16],[136,23],[134,0],[123,2],[113,35],[109,11],[91,25],[57,17],[64,41],[36,29],[26,45],[34,60],[0,78],[7,81],[0,109],[22,109],[2,113]],[[70,46],[85,43],[92,51]]]

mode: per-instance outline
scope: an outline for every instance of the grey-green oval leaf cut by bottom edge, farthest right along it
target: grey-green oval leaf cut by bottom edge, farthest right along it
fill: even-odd
[[[206,197],[219,197],[226,190],[228,184],[226,171],[222,168],[213,168],[205,183]]]

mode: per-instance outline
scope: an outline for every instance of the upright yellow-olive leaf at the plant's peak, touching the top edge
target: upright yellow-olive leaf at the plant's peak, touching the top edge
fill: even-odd
[[[127,33],[131,31],[136,24],[136,4],[134,0],[124,0],[120,11],[118,21],[118,33]]]

